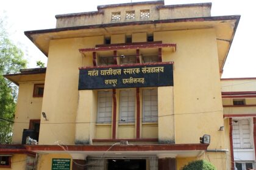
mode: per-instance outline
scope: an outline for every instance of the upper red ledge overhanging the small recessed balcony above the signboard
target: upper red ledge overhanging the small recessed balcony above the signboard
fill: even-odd
[[[152,48],[163,48],[163,47],[173,47],[176,50],[176,44],[130,44],[124,46],[109,46],[109,47],[95,47],[88,49],[79,49],[79,52],[99,52],[99,51],[109,51],[109,50],[124,50],[124,49],[152,49]]]

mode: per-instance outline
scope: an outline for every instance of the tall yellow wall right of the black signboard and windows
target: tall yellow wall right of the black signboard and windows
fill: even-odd
[[[154,39],[177,44],[175,53],[163,52],[163,61],[174,61],[176,143],[199,143],[209,134],[209,148],[220,148],[224,134],[218,129],[224,122],[214,30],[155,32]]]

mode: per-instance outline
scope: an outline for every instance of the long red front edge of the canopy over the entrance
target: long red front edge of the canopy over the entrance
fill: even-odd
[[[88,144],[88,145],[65,145],[68,151],[206,151],[208,144],[129,144],[119,145]],[[63,151],[58,145],[26,145],[27,151]]]

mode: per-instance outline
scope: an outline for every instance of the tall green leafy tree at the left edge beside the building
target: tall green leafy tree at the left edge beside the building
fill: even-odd
[[[5,22],[0,18],[0,143],[12,140],[12,124],[15,112],[15,98],[18,87],[3,77],[26,67],[23,52],[8,38]]]

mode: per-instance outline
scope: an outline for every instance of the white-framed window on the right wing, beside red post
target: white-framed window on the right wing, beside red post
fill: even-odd
[[[251,144],[251,130],[250,121],[244,120],[234,120],[233,126],[233,148],[234,149],[249,149],[252,148]]]

